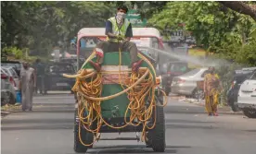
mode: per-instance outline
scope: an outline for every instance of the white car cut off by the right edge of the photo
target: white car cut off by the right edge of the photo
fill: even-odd
[[[237,105],[247,117],[256,118],[256,71],[242,83]]]

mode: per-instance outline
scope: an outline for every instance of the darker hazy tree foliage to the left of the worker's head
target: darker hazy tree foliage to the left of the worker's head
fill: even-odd
[[[2,2],[1,45],[48,55],[59,42],[67,48],[78,30],[103,27],[113,16],[113,7],[105,2]]]

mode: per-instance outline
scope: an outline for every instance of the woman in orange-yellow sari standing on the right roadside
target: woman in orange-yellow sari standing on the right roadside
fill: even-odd
[[[211,66],[209,73],[204,77],[205,109],[210,116],[218,116],[220,88],[222,89],[220,77],[215,73],[215,68]]]

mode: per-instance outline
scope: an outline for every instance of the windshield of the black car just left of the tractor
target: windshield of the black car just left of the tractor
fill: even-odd
[[[49,65],[49,73],[73,73],[74,68],[72,65]]]

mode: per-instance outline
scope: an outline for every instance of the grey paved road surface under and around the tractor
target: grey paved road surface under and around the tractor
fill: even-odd
[[[12,113],[2,120],[2,154],[73,154],[72,95],[40,96],[34,102],[37,107],[33,112]],[[256,120],[226,112],[209,117],[200,106],[172,100],[165,113],[167,154],[256,153]],[[154,153],[136,141],[99,141],[88,151],[89,154],[147,152]]]

